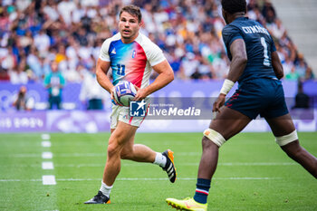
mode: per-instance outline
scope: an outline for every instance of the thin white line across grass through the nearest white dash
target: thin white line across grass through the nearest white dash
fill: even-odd
[[[178,177],[178,180],[196,180],[197,177]],[[214,177],[216,180],[276,180],[283,177]],[[42,179],[0,179],[0,182],[38,182],[43,185],[56,185],[56,181],[99,181],[101,178],[56,178],[53,175],[44,175]],[[160,181],[168,180],[168,177],[119,177],[120,181]],[[44,184],[45,183],[45,184]]]

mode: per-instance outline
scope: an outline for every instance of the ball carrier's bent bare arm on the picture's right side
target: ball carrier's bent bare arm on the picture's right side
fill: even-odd
[[[158,77],[146,88],[138,89],[137,95],[134,98],[135,101],[140,101],[146,98],[149,94],[162,89],[174,80],[174,72],[167,60],[159,62],[158,64],[152,66],[152,68],[155,72],[159,73]]]

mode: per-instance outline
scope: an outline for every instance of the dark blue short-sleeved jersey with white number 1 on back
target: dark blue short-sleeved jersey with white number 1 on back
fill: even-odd
[[[258,78],[277,79],[271,57],[271,53],[276,51],[276,48],[272,36],[263,25],[247,17],[239,17],[224,27],[222,35],[230,61],[232,60],[231,43],[236,39],[245,41],[247,63],[245,71],[238,80],[239,84]]]

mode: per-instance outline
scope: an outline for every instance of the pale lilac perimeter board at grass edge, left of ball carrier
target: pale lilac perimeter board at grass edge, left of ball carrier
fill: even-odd
[[[83,110],[44,110],[0,113],[0,132],[110,131],[110,113]]]

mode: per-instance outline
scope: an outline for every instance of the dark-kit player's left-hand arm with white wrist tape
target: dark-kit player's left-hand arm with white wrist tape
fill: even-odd
[[[231,90],[235,82],[245,71],[245,65],[247,62],[245,41],[243,39],[236,39],[230,45],[230,52],[232,54],[232,61],[230,64],[229,73],[226,77],[220,94],[214,103],[213,111],[220,111],[220,107],[225,104],[226,94]]]

